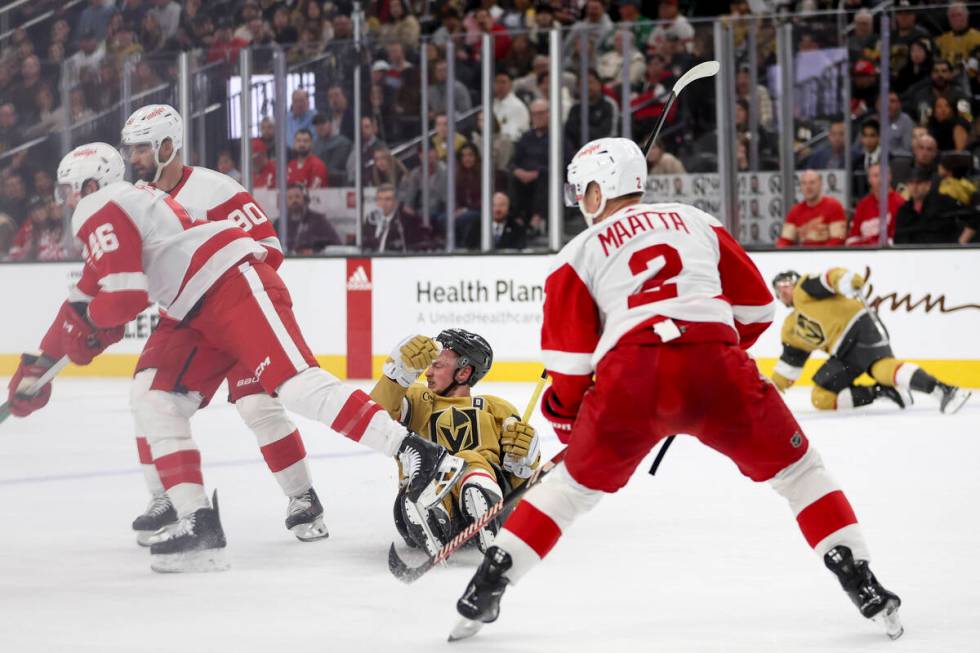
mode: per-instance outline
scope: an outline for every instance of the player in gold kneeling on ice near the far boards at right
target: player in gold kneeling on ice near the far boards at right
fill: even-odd
[[[970,392],[895,358],[888,331],[877,313],[860,300],[861,275],[832,268],[800,277],[791,270],[773,277],[772,286],[776,298],[793,309],[783,322],[783,353],[772,375],[781,391],[800,378],[803,364],[819,349],[830,355],[813,375],[811,400],[821,410],[865,406],[879,397],[906,408],[915,390],[934,396],[939,410],[951,414],[970,398]],[[854,384],[865,372],[877,381],[875,385]]]

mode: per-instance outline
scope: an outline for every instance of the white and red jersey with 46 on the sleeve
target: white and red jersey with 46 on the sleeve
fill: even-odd
[[[72,231],[85,266],[69,300],[88,302],[99,327],[123,324],[150,302],[183,319],[221,275],[267,252],[235,223],[195,219],[170,195],[125,181],[82,198]]]

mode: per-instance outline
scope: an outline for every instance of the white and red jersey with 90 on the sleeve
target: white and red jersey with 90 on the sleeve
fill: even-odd
[[[272,221],[258,201],[226,174],[200,166],[184,166],[170,196],[200,220],[231,220],[268,250],[265,262],[273,268],[282,263],[282,245]]]

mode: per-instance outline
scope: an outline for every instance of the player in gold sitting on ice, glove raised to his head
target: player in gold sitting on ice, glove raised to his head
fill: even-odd
[[[534,428],[520,421],[513,405],[499,397],[471,394],[492,364],[487,341],[463,329],[447,329],[435,339],[406,338],[391,353],[384,376],[371,391],[371,398],[392,417],[466,461],[459,483],[428,511],[417,510],[406,497],[407,479],[402,475],[395,526],[409,546],[429,555],[520,487],[540,461]],[[423,371],[426,384],[415,383]],[[481,551],[493,544],[499,525],[496,519],[480,530]]]

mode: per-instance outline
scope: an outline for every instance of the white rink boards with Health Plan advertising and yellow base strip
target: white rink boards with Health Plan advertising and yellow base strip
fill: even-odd
[[[783,270],[822,272],[834,266],[868,274],[869,302],[879,306],[895,354],[927,361],[952,382],[980,386],[980,346],[975,344],[980,252],[779,251],[753,253],[752,258],[767,280]],[[495,365],[488,378],[525,381],[540,370],[541,308],[550,260],[517,255],[290,259],[281,272],[310,347],[338,376],[360,378],[368,369],[376,376],[387,353],[406,336],[460,327],[482,334],[493,346]],[[79,269],[67,263],[0,266],[8,306],[17,307],[0,335],[0,373],[12,373],[19,352],[36,349]],[[777,324],[751,350],[765,372],[781,351],[778,326],[787,313],[778,308]],[[156,319],[155,309],[146,311],[102,360],[72,372],[131,374]],[[814,355],[807,370],[812,373],[822,358]]]

